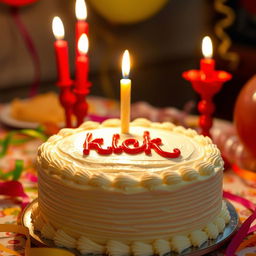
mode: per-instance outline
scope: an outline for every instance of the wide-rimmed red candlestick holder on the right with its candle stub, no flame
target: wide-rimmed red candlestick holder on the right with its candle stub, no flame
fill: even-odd
[[[211,61],[212,63],[210,63]],[[201,60],[201,70],[189,70],[182,74],[183,78],[191,82],[193,89],[201,96],[197,105],[200,113],[199,127],[201,134],[209,137],[211,137],[210,129],[213,124],[212,114],[215,110],[212,98],[221,90],[223,83],[232,78],[230,73],[214,70],[214,64],[212,59],[203,59]]]

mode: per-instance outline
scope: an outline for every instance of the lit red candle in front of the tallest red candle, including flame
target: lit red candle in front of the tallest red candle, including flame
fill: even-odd
[[[80,55],[76,59],[76,90],[83,91],[88,89],[89,61],[88,52],[89,41],[86,34],[82,34],[78,40],[78,51]]]

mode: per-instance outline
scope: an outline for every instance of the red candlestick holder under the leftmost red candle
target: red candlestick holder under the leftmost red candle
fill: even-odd
[[[58,87],[60,88],[59,100],[65,111],[65,121],[67,128],[72,128],[73,106],[76,101],[75,95],[71,91],[72,84],[72,80],[65,84],[57,83]]]

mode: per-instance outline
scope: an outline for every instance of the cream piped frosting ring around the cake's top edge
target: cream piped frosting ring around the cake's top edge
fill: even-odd
[[[84,188],[95,187],[104,189],[116,189],[118,191],[129,190],[170,190],[173,187],[182,186],[188,182],[193,183],[204,180],[223,170],[224,162],[216,145],[209,137],[198,135],[192,129],[186,129],[182,126],[175,126],[170,122],[157,123],[146,119],[136,119],[131,122],[131,126],[140,126],[145,128],[163,129],[173,131],[193,138],[204,147],[205,156],[203,161],[196,161],[192,167],[180,167],[178,170],[163,171],[162,173],[146,173],[141,177],[134,177],[130,174],[120,172],[113,176],[104,172],[93,173],[78,166],[72,162],[54,158],[51,149],[56,143],[65,137],[71,136],[82,131],[104,127],[119,127],[119,119],[108,119],[102,124],[92,121],[83,123],[77,129],[62,129],[58,134],[53,135],[47,142],[42,144],[38,150],[38,166],[47,171],[49,175],[57,175],[63,182],[69,181],[69,185],[83,186]]]

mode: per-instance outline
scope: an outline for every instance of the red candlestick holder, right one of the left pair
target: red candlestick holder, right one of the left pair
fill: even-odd
[[[74,104],[74,114],[77,120],[77,127],[81,125],[84,121],[84,118],[88,113],[88,103],[86,101],[86,95],[89,94],[89,87],[91,86],[90,82],[87,82],[85,89],[74,89],[76,95],[76,102]]]

